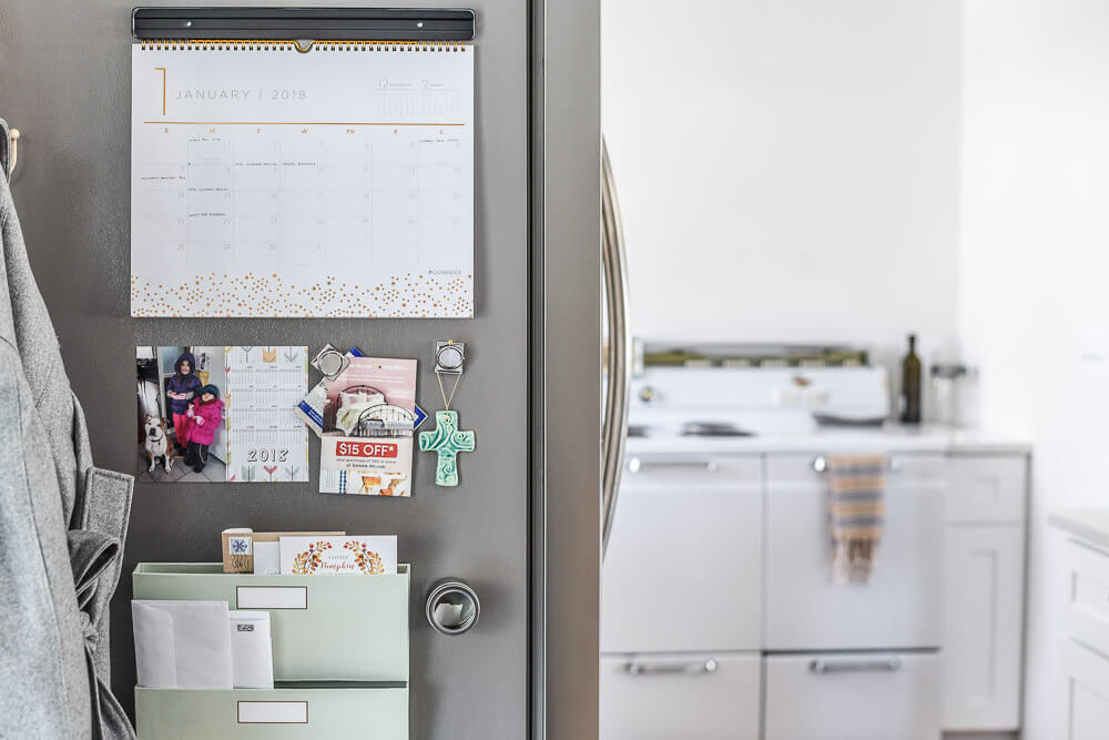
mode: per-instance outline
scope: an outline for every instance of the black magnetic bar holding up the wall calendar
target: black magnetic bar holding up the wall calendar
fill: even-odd
[[[135,39],[470,41],[470,9],[135,8]]]

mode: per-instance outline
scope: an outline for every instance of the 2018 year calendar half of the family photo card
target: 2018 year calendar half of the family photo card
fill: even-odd
[[[308,388],[307,347],[226,347],[227,480],[308,479],[308,430],[296,405]]]

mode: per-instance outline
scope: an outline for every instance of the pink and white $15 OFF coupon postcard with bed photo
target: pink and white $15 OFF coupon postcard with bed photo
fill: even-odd
[[[325,383],[319,493],[410,496],[416,361],[349,359]]]

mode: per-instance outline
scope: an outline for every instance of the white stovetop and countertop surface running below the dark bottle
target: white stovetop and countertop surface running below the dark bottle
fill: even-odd
[[[976,455],[1027,455],[1031,445],[1004,434],[939,426],[817,429],[754,437],[629,437],[628,455],[757,455],[889,450]]]

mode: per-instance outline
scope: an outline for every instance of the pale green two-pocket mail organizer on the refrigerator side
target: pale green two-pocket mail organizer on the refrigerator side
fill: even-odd
[[[269,612],[273,690],[135,689],[143,740],[408,738],[409,566],[396,575],[255,576],[220,562],[140,562],[135,599]],[[349,733],[354,732],[354,736]]]

